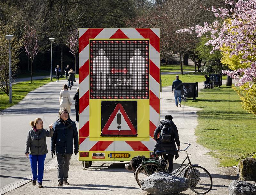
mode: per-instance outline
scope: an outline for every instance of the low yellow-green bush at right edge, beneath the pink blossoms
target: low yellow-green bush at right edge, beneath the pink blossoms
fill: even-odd
[[[233,87],[233,89],[239,94],[242,107],[249,113],[256,115],[256,84],[254,83],[249,88],[249,83],[246,83],[240,88]]]

